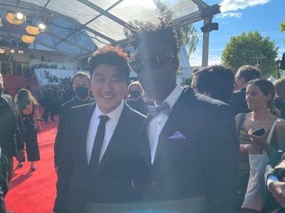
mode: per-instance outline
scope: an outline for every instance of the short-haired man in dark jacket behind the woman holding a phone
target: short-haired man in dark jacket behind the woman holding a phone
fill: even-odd
[[[244,65],[239,67],[235,76],[235,92],[232,95],[232,101],[229,104],[234,108],[234,114],[248,113],[249,108],[245,100],[245,90],[247,83],[254,79],[259,79],[261,72],[258,67]]]

